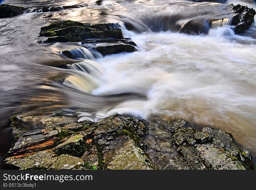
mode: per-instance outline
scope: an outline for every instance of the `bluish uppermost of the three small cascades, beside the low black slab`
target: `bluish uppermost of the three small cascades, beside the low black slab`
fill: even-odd
[[[70,59],[95,59],[93,54],[86,48],[77,48],[60,52],[64,57]]]

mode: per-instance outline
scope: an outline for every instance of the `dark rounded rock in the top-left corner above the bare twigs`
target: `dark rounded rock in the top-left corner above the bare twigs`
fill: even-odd
[[[0,5],[0,18],[16,17],[22,15],[25,11],[24,7],[1,4]]]

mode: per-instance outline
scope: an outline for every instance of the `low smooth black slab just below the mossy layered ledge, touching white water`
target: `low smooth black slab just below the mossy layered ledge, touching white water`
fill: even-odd
[[[105,46],[97,46],[95,49],[102,55],[136,51],[135,47],[129,44],[114,44],[114,45],[108,44]]]

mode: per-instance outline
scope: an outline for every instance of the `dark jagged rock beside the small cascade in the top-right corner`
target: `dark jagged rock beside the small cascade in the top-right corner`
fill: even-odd
[[[253,8],[242,6],[240,4],[234,6],[232,3],[227,6],[228,10],[234,13],[232,17],[232,25],[234,26],[234,32],[236,34],[244,32],[248,29],[254,21],[256,12]]]

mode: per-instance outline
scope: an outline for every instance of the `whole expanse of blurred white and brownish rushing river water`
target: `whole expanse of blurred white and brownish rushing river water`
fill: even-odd
[[[79,4],[81,8],[18,18],[22,29],[13,36],[13,44],[0,47],[1,126],[15,113],[46,106],[77,109],[79,121],[96,121],[115,113],[143,119],[160,115],[221,128],[256,157],[256,22],[243,35],[234,34],[228,19],[210,26],[209,19],[230,15],[224,9],[227,4],[167,0],[4,3],[27,8]],[[256,7],[252,1],[228,3]],[[41,26],[67,19],[119,22],[138,51],[103,57],[88,52],[81,43],[38,44],[45,39],[38,37]],[[199,35],[181,33],[192,33],[191,23]],[[64,50],[72,50],[78,59],[67,59],[61,53]],[[69,69],[47,66],[64,63]],[[4,129],[1,136],[9,133]],[[7,140],[2,141],[5,146]]]

